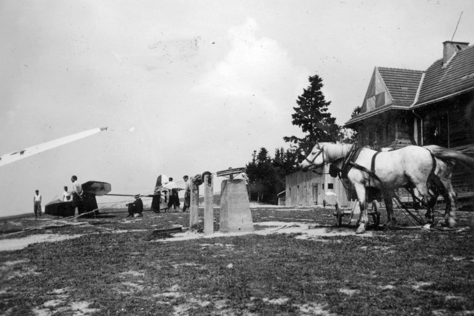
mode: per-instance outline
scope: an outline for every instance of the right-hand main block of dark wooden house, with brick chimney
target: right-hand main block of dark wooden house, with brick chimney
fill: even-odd
[[[474,144],[474,45],[446,41],[443,58],[424,73],[410,110],[420,145],[455,150]],[[416,129],[415,129],[416,128]],[[474,197],[473,173],[456,164],[452,183],[458,199]]]

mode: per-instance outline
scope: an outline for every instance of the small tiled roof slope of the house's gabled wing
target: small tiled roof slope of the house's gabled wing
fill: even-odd
[[[422,71],[377,67],[392,96],[393,104],[409,107],[415,100]]]

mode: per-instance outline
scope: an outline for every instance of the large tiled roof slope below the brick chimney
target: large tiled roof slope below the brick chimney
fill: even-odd
[[[467,90],[474,90],[474,45],[458,51],[446,67],[439,59],[428,68],[412,108]]]

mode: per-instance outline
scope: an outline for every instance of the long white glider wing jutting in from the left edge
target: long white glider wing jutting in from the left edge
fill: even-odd
[[[61,146],[67,143],[71,143],[75,140],[99,133],[100,131],[103,131],[104,129],[107,129],[107,127],[97,127],[97,128],[92,128],[90,130],[80,132],[77,134],[65,136],[62,138],[58,138],[43,144],[39,144],[36,146],[31,146],[22,150],[18,150],[13,153],[6,153],[4,155],[0,156],[0,167],[8,164],[8,163],[13,163],[16,162],[17,160],[29,157],[31,155],[34,155],[36,153],[41,153],[44,152],[48,149],[55,148],[57,146]]]

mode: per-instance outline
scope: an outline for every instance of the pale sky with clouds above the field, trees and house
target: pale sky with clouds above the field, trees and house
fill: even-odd
[[[43,205],[61,196],[72,175],[147,194],[160,174],[286,149],[315,74],[342,125],[375,66],[426,70],[461,12],[453,40],[473,43],[472,0],[0,0],[0,154],[109,127],[1,167],[0,217],[31,213],[35,190]]]

